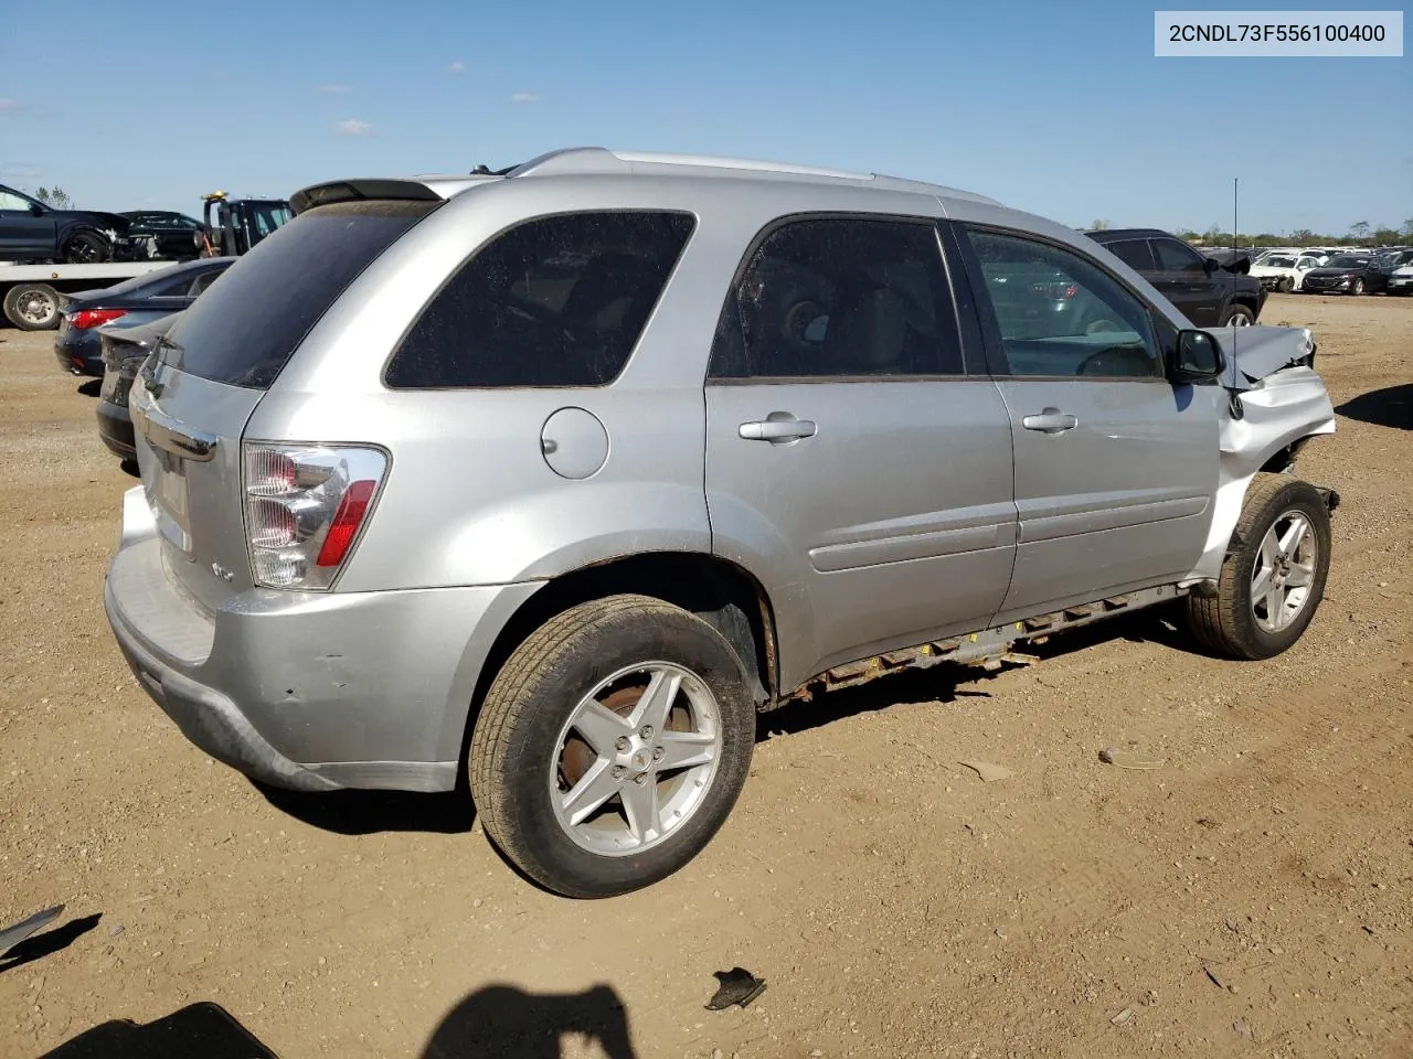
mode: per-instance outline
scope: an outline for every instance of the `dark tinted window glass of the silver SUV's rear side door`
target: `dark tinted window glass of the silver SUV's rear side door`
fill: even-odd
[[[714,378],[962,373],[937,230],[811,217],[770,232],[728,294]]]

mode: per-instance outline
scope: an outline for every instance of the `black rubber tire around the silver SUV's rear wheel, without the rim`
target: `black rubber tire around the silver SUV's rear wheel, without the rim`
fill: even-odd
[[[675,830],[640,853],[595,853],[569,837],[551,802],[561,734],[582,696],[649,661],[681,666],[709,689],[719,757],[706,791]],[[747,686],[731,644],[661,600],[609,596],[558,614],[506,659],[472,733],[468,774],[486,833],[526,875],[565,897],[612,897],[666,878],[706,846],[746,781],[756,736]]]

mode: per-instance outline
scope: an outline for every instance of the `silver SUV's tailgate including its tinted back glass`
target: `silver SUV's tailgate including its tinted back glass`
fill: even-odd
[[[137,463],[168,576],[219,607],[252,586],[240,439],[304,335],[421,203],[312,209],[233,264],[192,302],[130,398]]]

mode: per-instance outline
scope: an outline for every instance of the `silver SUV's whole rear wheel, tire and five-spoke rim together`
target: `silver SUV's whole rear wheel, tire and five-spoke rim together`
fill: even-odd
[[[572,607],[506,659],[471,740],[486,833],[541,885],[610,897],[695,857],[750,767],[755,705],[722,635],[646,596]]]

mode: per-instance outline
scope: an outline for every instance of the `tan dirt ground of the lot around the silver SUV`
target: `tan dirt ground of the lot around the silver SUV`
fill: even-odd
[[[0,330],[0,925],[66,905],[0,957],[0,1056],[198,1001],[284,1059],[1413,1056],[1413,299],[1263,319],[1316,329],[1341,412],[1293,651],[1140,616],[790,707],[711,847],[601,902],[520,880],[465,798],[266,795],[189,746],[103,620],[134,480],[96,387]],[[704,1010],[733,966],[764,994]]]

